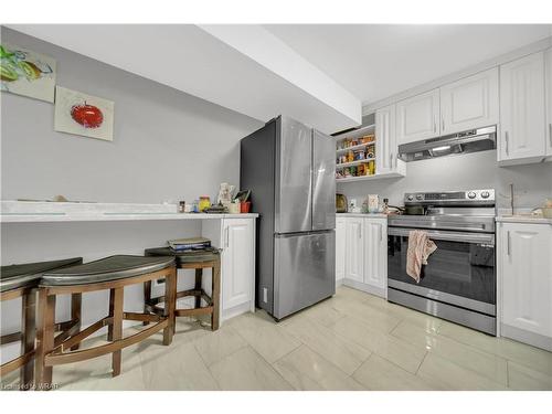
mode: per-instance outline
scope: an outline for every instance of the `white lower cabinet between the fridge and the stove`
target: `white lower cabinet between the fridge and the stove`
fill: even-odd
[[[336,233],[336,274],[343,273],[347,286],[386,297],[388,220],[385,217],[342,216],[344,235]],[[339,277],[337,276],[339,279]]]

